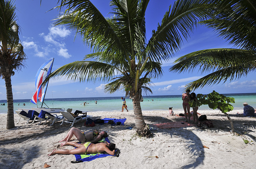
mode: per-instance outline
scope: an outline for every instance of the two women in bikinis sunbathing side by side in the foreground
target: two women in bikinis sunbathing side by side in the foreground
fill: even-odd
[[[76,136],[77,140],[82,144],[76,142],[70,142],[70,139]],[[97,143],[101,140],[102,137],[108,137],[106,131],[99,132],[98,130],[86,131],[83,132],[75,127],[71,128],[67,134],[67,136],[59,141],[64,142],[61,143],[61,147],[64,145],[72,145],[75,146],[76,149],[68,150],[68,149],[54,149],[49,156],[54,154],[96,154],[96,153],[104,153],[107,152],[110,155],[115,155],[115,147],[116,144],[101,142]]]

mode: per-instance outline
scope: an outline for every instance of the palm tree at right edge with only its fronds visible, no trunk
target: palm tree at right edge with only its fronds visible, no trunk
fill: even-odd
[[[207,49],[189,53],[175,60],[172,72],[201,70],[210,73],[187,84],[191,90],[221,81],[239,79],[256,70],[256,2],[212,1],[210,19],[202,22],[220,37],[240,49]]]

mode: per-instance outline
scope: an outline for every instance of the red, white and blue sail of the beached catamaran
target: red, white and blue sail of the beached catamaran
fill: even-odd
[[[36,74],[36,82],[35,82],[36,93],[33,95],[30,102],[37,104],[37,99],[39,99],[40,102],[43,102],[48,82],[46,83],[46,85],[44,87],[42,87],[41,84],[45,80],[45,78],[51,73],[52,64],[53,64],[53,59],[47,60],[40,67],[40,69],[38,69],[37,74]]]

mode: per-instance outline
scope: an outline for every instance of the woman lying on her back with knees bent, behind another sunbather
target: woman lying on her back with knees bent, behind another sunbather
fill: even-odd
[[[98,130],[93,130],[93,131],[86,131],[86,132],[83,132],[75,127],[72,127],[67,136],[59,141],[59,142],[69,142],[70,139],[73,137],[73,135],[76,136],[77,140],[80,141],[81,143],[84,143],[84,142],[92,142],[92,143],[96,143],[98,142],[102,137],[108,137],[108,134],[106,131],[101,131],[99,132]],[[62,144],[65,144],[65,143],[62,143]],[[61,144],[61,145],[62,145]]]

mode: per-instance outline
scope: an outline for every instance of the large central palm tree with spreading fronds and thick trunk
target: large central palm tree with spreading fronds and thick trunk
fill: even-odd
[[[68,9],[54,25],[66,25],[81,34],[94,53],[58,68],[48,77],[65,76],[79,82],[102,80],[109,82],[106,92],[126,91],[132,99],[137,133],[142,136],[150,132],[141,112],[141,91],[152,93],[150,79],[162,75],[162,60],[179,50],[182,39],[189,37],[193,25],[202,21],[208,8],[201,0],[178,0],[147,42],[144,16],[148,3],[112,0],[113,16],[104,18],[89,0],[62,0],[59,8]]]

